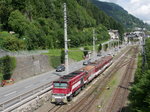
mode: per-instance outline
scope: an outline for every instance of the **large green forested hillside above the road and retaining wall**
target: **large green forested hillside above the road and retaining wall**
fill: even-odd
[[[93,28],[97,42],[110,38],[108,29],[118,29],[123,34],[121,24],[88,0],[0,0],[0,48],[11,51],[63,48],[64,2],[70,47],[91,45]]]

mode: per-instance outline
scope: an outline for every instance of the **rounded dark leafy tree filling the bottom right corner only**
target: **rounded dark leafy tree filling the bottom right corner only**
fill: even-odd
[[[139,82],[133,85],[129,96],[133,112],[148,112],[150,110],[150,71],[142,75]]]

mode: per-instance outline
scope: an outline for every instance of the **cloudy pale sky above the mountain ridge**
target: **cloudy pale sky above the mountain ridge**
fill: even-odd
[[[135,17],[150,24],[150,0],[99,0],[105,2],[113,2]]]

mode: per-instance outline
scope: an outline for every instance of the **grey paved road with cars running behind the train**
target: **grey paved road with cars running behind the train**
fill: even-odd
[[[118,51],[118,50],[117,50]],[[108,53],[117,52],[115,49],[103,52],[103,56]],[[100,57],[95,57],[95,59]],[[83,67],[83,61],[73,63],[69,66],[69,72],[75,71],[79,68]],[[60,76],[66,75],[66,72],[55,72],[55,70],[43,73],[41,75],[31,77],[29,79],[17,82],[13,85],[0,87],[0,103],[9,100],[10,98],[14,98],[18,95],[21,95],[25,92],[31,91],[37,87],[40,87],[44,84],[52,82],[53,80],[58,79]]]

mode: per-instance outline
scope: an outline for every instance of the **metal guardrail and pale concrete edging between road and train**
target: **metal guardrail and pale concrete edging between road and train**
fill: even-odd
[[[30,90],[26,93],[20,94],[16,97],[13,97],[11,99],[8,99],[4,102],[0,103],[0,112],[8,112],[11,111],[19,106],[21,106],[22,104],[25,104],[26,102],[37,98],[38,96],[44,94],[47,91],[50,91],[52,89],[52,83],[47,83],[44,84],[40,87],[37,87],[33,90]]]

